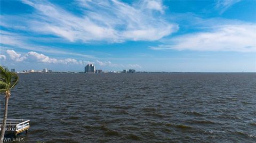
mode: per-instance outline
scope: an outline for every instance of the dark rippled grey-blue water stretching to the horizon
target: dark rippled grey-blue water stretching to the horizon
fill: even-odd
[[[19,77],[8,117],[31,120],[26,142],[256,142],[255,73]]]

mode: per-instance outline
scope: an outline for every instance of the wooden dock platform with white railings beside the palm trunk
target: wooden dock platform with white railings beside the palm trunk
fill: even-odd
[[[23,131],[28,131],[30,120],[25,119],[7,119],[5,133],[6,134],[14,134],[17,136],[18,133]],[[3,119],[0,119],[0,131],[2,129]]]

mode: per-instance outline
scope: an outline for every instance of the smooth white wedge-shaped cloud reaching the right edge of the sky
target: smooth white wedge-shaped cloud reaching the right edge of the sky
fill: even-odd
[[[255,39],[255,24],[225,25],[213,27],[209,32],[189,33],[167,39],[163,45],[151,49],[255,52]]]

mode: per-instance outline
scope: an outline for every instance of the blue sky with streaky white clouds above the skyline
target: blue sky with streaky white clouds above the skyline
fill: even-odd
[[[256,1],[1,1],[16,71],[256,72]]]

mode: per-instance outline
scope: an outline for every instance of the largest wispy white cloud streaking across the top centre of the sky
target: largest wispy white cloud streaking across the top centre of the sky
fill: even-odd
[[[129,5],[113,1],[78,1],[82,15],[74,15],[57,5],[42,1],[23,1],[33,6],[37,13],[28,19],[29,27],[43,34],[56,35],[71,42],[81,40],[108,41],[158,40],[178,30],[161,18],[164,6],[161,1],[134,2]],[[65,15],[65,16],[63,16]]]

